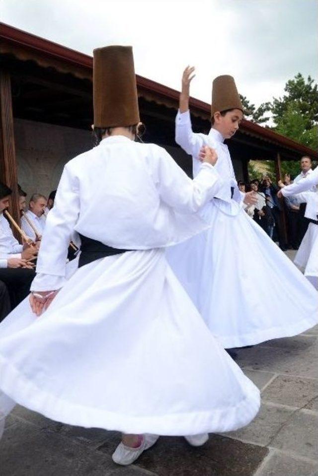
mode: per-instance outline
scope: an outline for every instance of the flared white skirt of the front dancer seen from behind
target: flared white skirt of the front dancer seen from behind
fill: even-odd
[[[83,266],[39,318],[21,303],[0,324],[0,390],[2,412],[125,433],[228,431],[259,408],[163,250]]]

